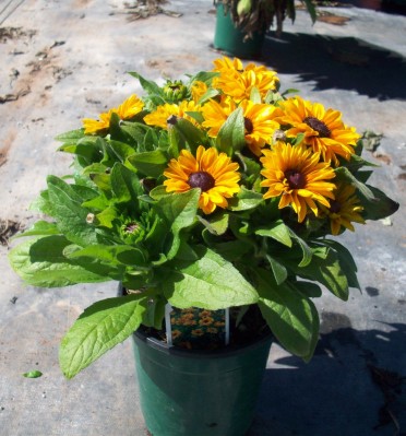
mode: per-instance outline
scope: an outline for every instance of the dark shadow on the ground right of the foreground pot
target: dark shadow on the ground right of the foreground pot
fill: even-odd
[[[406,435],[406,325],[357,331],[347,317],[324,315],[344,327],[321,334],[310,364],[291,356],[266,370],[248,436],[256,426],[270,429],[261,436]]]

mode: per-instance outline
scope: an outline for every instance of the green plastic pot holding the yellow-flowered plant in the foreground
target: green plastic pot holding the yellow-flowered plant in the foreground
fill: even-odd
[[[140,402],[152,436],[244,436],[272,344],[192,351],[133,334]]]

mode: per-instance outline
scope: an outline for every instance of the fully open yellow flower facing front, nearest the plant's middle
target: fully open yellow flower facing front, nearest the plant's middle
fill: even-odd
[[[199,208],[205,214],[219,208],[227,208],[227,199],[240,190],[237,173],[238,164],[231,162],[226,153],[218,153],[216,149],[204,149],[199,145],[196,157],[188,150],[182,150],[178,160],[172,158],[164,176],[168,192],[186,192],[200,188]]]

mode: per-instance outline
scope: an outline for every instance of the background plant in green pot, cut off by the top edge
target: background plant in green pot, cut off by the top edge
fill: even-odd
[[[317,19],[311,0],[303,0],[312,22]],[[275,25],[280,37],[283,22],[296,17],[294,0],[214,0],[216,27],[214,47],[240,58],[260,57],[266,32]]]

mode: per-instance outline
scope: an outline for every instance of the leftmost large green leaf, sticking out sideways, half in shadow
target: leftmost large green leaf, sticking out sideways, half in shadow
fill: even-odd
[[[69,245],[69,240],[57,235],[27,239],[9,252],[9,260],[14,271],[33,286],[61,287],[111,280],[114,269],[63,256]]]

